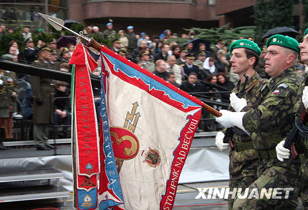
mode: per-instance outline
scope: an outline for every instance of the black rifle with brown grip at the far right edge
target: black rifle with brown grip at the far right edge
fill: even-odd
[[[295,125],[292,127],[290,133],[288,134],[287,138],[285,139],[283,147],[286,149],[290,149],[292,153],[292,158],[296,160],[299,156],[296,150],[296,143],[298,142],[298,135],[307,138],[308,134],[308,127],[304,125],[305,122],[308,121],[308,114],[306,109],[303,108],[302,112],[300,113],[299,118],[296,120]]]

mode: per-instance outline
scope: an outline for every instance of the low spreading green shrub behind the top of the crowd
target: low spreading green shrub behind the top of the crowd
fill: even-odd
[[[190,28],[185,29],[187,31],[194,30],[197,34],[195,36],[196,39],[201,39],[204,41],[211,42],[211,44],[215,45],[217,40],[224,39],[226,42],[226,45],[230,45],[232,40],[236,40],[239,37],[247,38],[248,36],[254,37],[254,29],[255,26],[243,26],[233,29],[228,29],[229,25],[225,25],[221,28],[210,28],[210,29],[203,29],[203,28]],[[169,40],[176,41],[180,46],[183,46],[184,43],[188,42],[187,39],[176,39],[176,40]]]

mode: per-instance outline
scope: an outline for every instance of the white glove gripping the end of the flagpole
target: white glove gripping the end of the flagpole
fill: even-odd
[[[227,128],[236,126],[247,132],[243,127],[243,116],[246,112],[232,112],[225,109],[221,109],[220,112],[222,116],[216,118],[216,122]]]

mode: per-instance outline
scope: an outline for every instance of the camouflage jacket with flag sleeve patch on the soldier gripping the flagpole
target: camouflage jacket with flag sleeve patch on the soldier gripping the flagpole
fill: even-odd
[[[259,106],[244,114],[243,126],[251,132],[256,150],[275,149],[294,124],[293,108],[303,78],[288,68],[261,89]]]

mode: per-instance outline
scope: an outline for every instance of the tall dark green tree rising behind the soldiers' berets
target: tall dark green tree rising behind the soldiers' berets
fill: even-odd
[[[263,45],[261,37],[276,27],[292,27],[293,0],[257,0],[255,4],[256,42]]]

